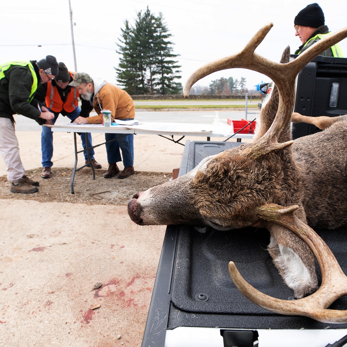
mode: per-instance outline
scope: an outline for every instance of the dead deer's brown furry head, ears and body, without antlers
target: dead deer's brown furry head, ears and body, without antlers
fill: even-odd
[[[288,61],[289,47],[280,62]],[[254,211],[269,203],[298,205],[296,217],[312,228],[346,225],[347,120],[340,117],[323,132],[293,143],[289,117],[277,136],[278,144],[286,145],[257,153],[256,144],[282,112],[279,99],[275,86],[258,117],[252,144],[205,158],[186,175],[135,194],[129,201],[128,214],[138,225],[267,228],[273,263],[295,297],[302,298],[318,287],[312,251],[287,227],[259,219]],[[294,86],[284,107],[293,110]]]

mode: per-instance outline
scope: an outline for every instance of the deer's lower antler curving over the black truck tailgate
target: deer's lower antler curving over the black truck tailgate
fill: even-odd
[[[295,216],[294,211],[297,208],[297,205],[283,207],[267,204],[260,206],[256,213],[261,219],[293,230],[308,244],[321,267],[321,287],[308,297],[286,301],[265,295],[249,285],[233,262],[229,262],[230,277],[244,296],[270,311],[287,315],[302,315],[325,323],[345,323],[347,322],[347,310],[328,310],[327,307],[339,297],[347,294],[347,277],[327,244],[314,230]]]

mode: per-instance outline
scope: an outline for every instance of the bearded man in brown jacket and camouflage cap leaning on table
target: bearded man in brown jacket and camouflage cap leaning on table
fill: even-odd
[[[102,124],[102,110],[111,111],[111,120],[131,120],[135,117],[135,106],[130,95],[103,80],[93,80],[88,74],[78,72],[74,81],[69,84],[76,87],[81,98],[89,100],[98,115],[83,118],[77,117],[74,123]],[[104,174],[111,178],[117,174],[118,178],[127,178],[134,173],[134,135],[119,135],[105,133],[107,161],[109,168]],[[119,172],[117,162],[121,161],[119,147],[122,150],[124,170]]]

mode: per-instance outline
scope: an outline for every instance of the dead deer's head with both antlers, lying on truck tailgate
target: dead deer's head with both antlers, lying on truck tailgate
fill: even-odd
[[[291,62],[288,62],[289,48],[287,48],[281,63],[276,63],[254,52],[271,27],[272,24],[269,24],[262,28],[242,52],[211,62],[196,70],[184,87],[184,96],[188,98],[190,88],[199,79],[215,71],[229,68],[247,68],[270,77],[277,88],[274,88],[270,101],[261,110],[260,126],[253,142],[205,158],[186,175],[134,195],[128,204],[128,213],[135,223],[200,224],[217,230],[246,226],[268,227],[269,223],[276,223],[296,232],[307,242],[303,234],[308,230],[311,232],[312,229],[302,221],[300,222],[304,225],[297,227],[295,224],[298,223],[295,219],[297,217],[294,215],[294,210],[300,208],[297,213],[304,221],[306,220],[304,207],[300,205],[301,173],[291,149],[293,141],[290,135],[290,119],[295,101],[295,78],[314,57],[344,39],[347,36],[347,28],[320,40]],[[276,115],[271,108],[277,109]],[[293,207],[293,205],[298,206]],[[274,213],[274,211],[280,212]],[[299,232],[298,229],[305,232]],[[315,246],[307,243],[317,255],[316,248],[328,247],[321,240],[319,242],[316,240],[317,238],[314,238]],[[331,252],[328,258],[332,261],[331,267],[336,267],[336,260]],[[345,290],[339,291],[338,296],[335,294],[330,296],[330,299],[327,298],[329,290],[321,290],[321,294],[317,292],[313,299],[310,299],[311,296],[307,299],[310,305],[315,302],[321,310],[319,314],[312,314],[307,313],[312,307],[307,308],[309,305],[305,306],[306,304],[294,310],[294,304],[298,301],[289,304],[290,309],[279,301],[276,301],[276,305],[271,304],[272,298],[261,296],[254,288],[243,282],[232,262],[229,264],[229,269],[239,290],[262,307],[284,314],[311,314],[312,318],[322,321],[347,321],[346,312],[336,311],[333,314],[330,312],[326,314],[325,310],[338,296],[346,294]],[[343,276],[339,274],[332,279],[338,279],[339,284],[347,288],[347,281],[342,279]],[[321,296],[324,296],[324,299]]]

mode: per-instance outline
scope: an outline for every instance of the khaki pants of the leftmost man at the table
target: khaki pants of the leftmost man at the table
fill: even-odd
[[[7,180],[15,182],[25,175],[20,160],[15,125],[9,118],[0,117],[0,153],[7,167]]]

